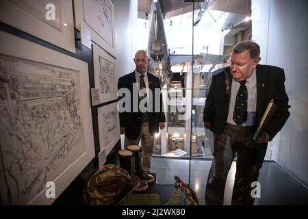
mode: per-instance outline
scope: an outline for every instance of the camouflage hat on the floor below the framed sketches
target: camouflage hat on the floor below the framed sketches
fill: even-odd
[[[140,181],[137,176],[114,164],[99,168],[84,189],[88,205],[118,205],[135,190]]]

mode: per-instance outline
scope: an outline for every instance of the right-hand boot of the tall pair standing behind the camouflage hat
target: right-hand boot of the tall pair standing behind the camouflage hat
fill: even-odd
[[[143,181],[146,181],[147,183],[151,183],[154,181],[154,177],[152,175],[147,174],[142,169],[142,148],[139,145],[129,145],[127,147],[129,151],[133,153],[133,157],[135,157],[135,170],[136,175],[142,179]]]

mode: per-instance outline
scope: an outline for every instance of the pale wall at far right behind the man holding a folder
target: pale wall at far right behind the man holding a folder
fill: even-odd
[[[269,9],[269,16],[253,21],[253,39],[261,50],[266,48],[264,64],[285,69],[285,87],[291,105],[291,116],[274,140],[273,157],[308,186],[308,1],[253,0],[252,3],[259,3],[261,12]]]

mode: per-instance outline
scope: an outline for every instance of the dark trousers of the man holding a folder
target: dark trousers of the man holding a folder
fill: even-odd
[[[222,205],[224,187],[231,164],[237,155],[235,182],[233,186],[232,205],[253,205],[255,199],[251,196],[251,183],[257,181],[259,169],[264,162],[267,144],[257,148],[248,145],[255,127],[241,127],[228,124],[224,131],[214,134],[214,159],[209,170],[205,190],[206,205]]]

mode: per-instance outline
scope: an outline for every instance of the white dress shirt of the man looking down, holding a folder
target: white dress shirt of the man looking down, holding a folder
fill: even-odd
[[[257,77],[256,70],[253,71],[253,75],[246,79],[245,86],[248,92],[248,101],[247,101],[247,120],[242,126],[252,126],[255,125],[255,113],[257,111]],[[238,89],[240,88],[240,82],[232,79],[231,83],[231,96],[230,96],[230,104],[229,104],[229,112],[227,123],[236,125],[233,121],[233,112],[236,94],[238,94]]]

